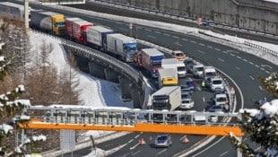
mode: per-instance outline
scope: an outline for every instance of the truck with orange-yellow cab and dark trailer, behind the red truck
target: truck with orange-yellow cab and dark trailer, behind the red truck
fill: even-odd
[[[42,10],[30,11],[30,27],[39,28],[55,35],[65,35],[65,16]]]

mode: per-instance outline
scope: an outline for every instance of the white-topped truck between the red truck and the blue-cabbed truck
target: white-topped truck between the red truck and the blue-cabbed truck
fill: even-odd
[[[107,34],[115,33],[115,31],[102,26],[93,26],[87,29],[87,45],[91,48],[97,48],[102,51],[107,51],[106,36]]]

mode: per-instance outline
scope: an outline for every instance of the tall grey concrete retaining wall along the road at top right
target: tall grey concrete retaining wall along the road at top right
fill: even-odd
[[[112,0],[278,35],[278,4],[262,0]]]

